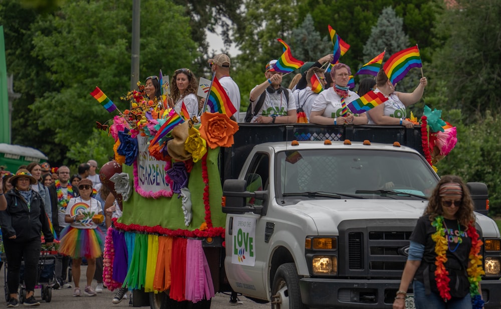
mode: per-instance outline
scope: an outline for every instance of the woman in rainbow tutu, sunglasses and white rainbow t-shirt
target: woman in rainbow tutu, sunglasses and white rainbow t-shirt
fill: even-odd
[[[82,179],[78,189],[80,196],[72,198],[66,208],[65,221],[70,225],[61,231],[59,252],[73,258],[73,296],[82,295],[79,287],[80,265],[82,258],[87,259],[87,285],[84,291],[88,296],[95,296],[96,291],[91,283],[96,271],[96,258],[101,256],[104,246],[104,234],[97,228],[104,219],[103,209],[99,201],[91,197],[92,181]]]

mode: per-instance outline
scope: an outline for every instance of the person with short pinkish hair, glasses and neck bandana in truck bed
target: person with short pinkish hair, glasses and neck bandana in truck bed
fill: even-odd
[[[331,70],[334,85],[320,92],[313,103],[310,113],[310,122],[318,124],[367,124],[365,113],[355,117],[350,110],[343,114],[343,103],[348,103],[359,98],[358,94],[350,91],[350,67],[344,63],[338,63]],[[343,102],[344,101],[344,102]],[[346,107],[348,108],[348,107]]]

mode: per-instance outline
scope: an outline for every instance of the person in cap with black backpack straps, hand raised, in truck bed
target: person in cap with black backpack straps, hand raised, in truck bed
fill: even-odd
[[[291,90],[282,87],[282,73],[270,61],[265,67],[266,81],[250,91],[245,122],[296,123],[296,99]]]

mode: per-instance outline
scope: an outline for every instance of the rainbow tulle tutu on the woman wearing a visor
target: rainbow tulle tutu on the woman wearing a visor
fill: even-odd
[[[97,258],[103,254],[104,234],[100,229],[77,229],[67,226],[61,231],[59,252],[73,258]]]

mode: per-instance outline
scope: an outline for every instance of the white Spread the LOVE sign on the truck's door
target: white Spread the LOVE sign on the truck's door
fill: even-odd
[[[231,263],[254,266],[256,263],[256,219],[233,217]]]

